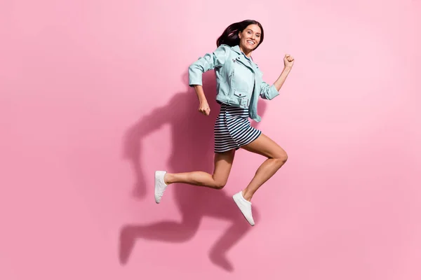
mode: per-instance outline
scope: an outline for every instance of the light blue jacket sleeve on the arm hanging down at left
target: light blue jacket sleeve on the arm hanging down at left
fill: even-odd
[[[202,85],[202,74],[224,65],[229,55],[229,46],[220,45],[214,52],[206,53],[189,66],[189,86]]]

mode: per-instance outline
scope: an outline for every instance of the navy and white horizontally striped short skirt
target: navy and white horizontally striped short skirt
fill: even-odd
[[[222,153],[257,139],[262,132],[250,125],[248,109],[221,104],[220,113],[213,127],[215,153]]]

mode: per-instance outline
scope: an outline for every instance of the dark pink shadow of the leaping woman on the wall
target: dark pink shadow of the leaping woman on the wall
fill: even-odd
[[[185,73],[182,76],[185,84],[188,84],[187,79],[188,76]],[[197,111],[199,103],[196,93],[187,86],[185,92],[174,94],[166,106],[154,109],[152,113],[144,116],[126,132],[123,147],[124,158],[131,162],[135,172],[137,183],[133,188],[133,195],[136,197],[148,195],[150,200],[154,200],[154,174],[145,176],[140,165],[142,150],[146,148],[142,147],[142,138],[159,130],[163,125],[170,125],[173,141],[172,154],[167,165],[162,162],[163,169],[168,167],[168,172],[171,173],[199,170],[213,173],[213,124],[219,113],[219,105],[214,101],[213,92],[216,91],[216,85],[215,75],[212,71],[203,74],[203,90],[207,94],[210,105],[210,116],[203,116]],[[265,109],[265,102],[259,102],[258,110],[261,116]],[[203,216],[211,216],[232,223],[208,252],[210,260],[215,265],[232,271],[233,266],[225,255],[229,248],[239,242],[252,228],[236,207],[232,200],[232,194],[227,195],[225,190],[177,185],[181,184],[173,184],[166,190],[161,204],[174,194],[182,221],[162,221],[149,225],[123,225],[120,232],[120,262],[125,264],[128,261],[137,239],[166,242],[188,241],[199,231]],[[233,187],[238,190],[245,186]],[[258,221],[259,215],[256,207],[253,207],[253,217]]]

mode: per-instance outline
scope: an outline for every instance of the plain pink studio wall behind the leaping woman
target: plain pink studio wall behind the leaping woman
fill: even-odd
[[[0,279],[421,279],[421,1],[0,2]],[[240,150],[222,191],[156,169],[213,165],[187,66],[253,18],[273,83],[258,127],[287,151]],[[418,174],[417,174],[418,172]]]

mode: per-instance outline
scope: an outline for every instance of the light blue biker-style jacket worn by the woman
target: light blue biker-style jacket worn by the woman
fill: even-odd
[[[202,74],[212,69],[217,82],[216,100],[248,109],[248,116],[256,122],[261,120],[258,116],[259,96],[274,99],[279,95],[274,85],[265,83],[258,65],[246,58],[239,45],[220,45],[214,52],[199,57],[189,66],[189,86],[202,85]],[[245,83],[245,77],[254,78],[254,83]]]

